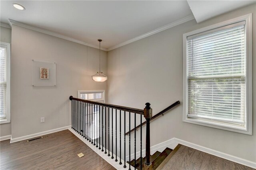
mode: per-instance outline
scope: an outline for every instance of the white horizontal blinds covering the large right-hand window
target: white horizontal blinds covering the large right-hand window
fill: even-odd
[[[244,124],[244,22],[187,40],[188,117]]]

